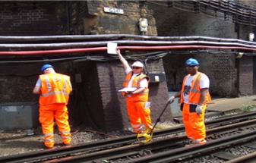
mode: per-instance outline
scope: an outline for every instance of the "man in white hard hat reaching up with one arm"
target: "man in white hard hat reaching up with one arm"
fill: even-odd
[[[120,50],[117,50],[119,59],[122,62],[125,68],[125,82],[123,86],[125,88],[134,88],[131,92],[122,92],[122,95],[125,96],[128,116],[131,121],[131,127],[133,128],[134,133],[141,132],[144,124],[146,128],[146,133],[150,133],[153,128],[151,118],[150,118],[150,105],[146,105],[148,100],[148,83],[149,77],[141,73],[144,65],[141,61],[135,61],[131,67],[128,64],[128,61],[122,57]]]

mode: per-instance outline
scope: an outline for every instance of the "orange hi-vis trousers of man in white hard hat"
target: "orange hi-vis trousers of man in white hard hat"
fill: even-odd
[[[145,128],[153,128],[150,118],[150,108],[145,108],[145,104],[146,102],[134,102],[131,98],[126,98],[128,116],[134,133],[142,129],[141,121]]]

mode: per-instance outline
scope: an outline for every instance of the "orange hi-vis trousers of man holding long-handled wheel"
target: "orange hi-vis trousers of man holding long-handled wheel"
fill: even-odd
[[[202,114],[190,111],[190,105],[183,103],[183,124],[188,138],[193,139],[194,142],[204,142],[205,124],[204,124],[204,113],[206,105],[202,105]]]

